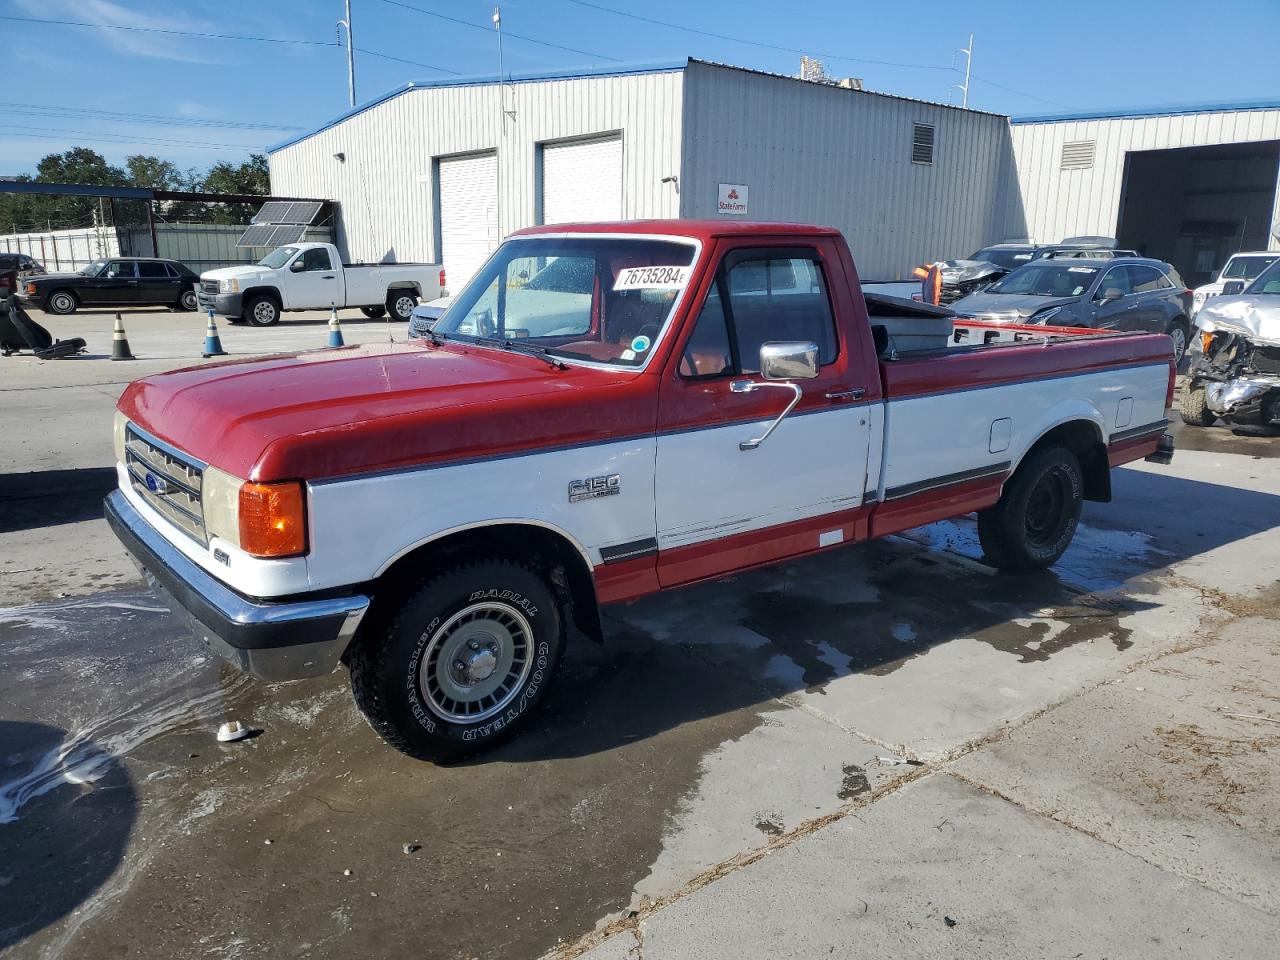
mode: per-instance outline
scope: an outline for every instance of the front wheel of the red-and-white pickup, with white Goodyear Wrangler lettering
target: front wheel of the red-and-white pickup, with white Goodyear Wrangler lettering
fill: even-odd
[[[552,588],[508,561],[463,563],[417,586],[349,658],[374,731],[422,760],[497,746],[529,719],[559,662]]]

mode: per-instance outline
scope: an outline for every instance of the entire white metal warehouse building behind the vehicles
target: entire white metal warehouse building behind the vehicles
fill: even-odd
[[[838,227],[864,279],[1103,234],[1198,280],[1280,243],[1277,146],[1280,105],[1010,122],[684,60],[410,83],[269,154],[274,193],[338,202],[349,260],[458,289],[522,227],[673,216]]]

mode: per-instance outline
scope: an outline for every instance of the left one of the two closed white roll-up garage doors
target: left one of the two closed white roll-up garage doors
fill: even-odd
[[[440,259],[457,293],[498,246],[498,155],[440,160]]]

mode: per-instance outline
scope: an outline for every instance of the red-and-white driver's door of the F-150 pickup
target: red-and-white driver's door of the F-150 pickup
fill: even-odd
[[[663,586],[852,539],[867,485],[865,357],[836,317],[852,311],[835,244],[737,247],[724,253],[685,324],[658,401],[658,577]],[[818,344],[817,379],[777,429],[785,389],[763,381],[760,346]],[[852,340],[856,343],[856,340]]]

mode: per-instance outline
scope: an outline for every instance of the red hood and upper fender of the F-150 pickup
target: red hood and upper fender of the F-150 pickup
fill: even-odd
[[[119,408],[234,476],[320,480],[652,433],[649,379],[415,340],[175,370]]]

